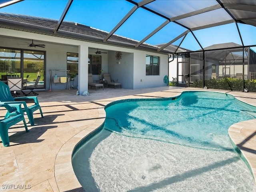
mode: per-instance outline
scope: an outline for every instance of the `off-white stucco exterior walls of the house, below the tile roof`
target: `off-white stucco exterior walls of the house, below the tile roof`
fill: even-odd
[[[102,69],[110,73],[111,78],[115,82],[122,83],[122,88],[126,89],[140,89],[158,86],[166,86],[163,82],[165,75],[168,75],[168,55],[151,53],[142,50],[134,50],[130,48],[122,48],[110,46],[106,44],[97,44],[92,42],[84,42],[79,40],[72,40],[67,38],[60,38],[55,36],[46,36],[42,34],[35,34],[17,30],[10,30],[0,28],[0,42],[1,47],[20,48],[27,50],[42,50],[46,51],[46,70],[45,70],[45,84],[46,90],[50,84],[50,70],[66,70],[67,52],[74,52],[79,54],[79,74],[74,80],[74,88],[78,86],[80,93],[88,91],[88,78],[84,75],[88,73],[88,51],[90,48],[99,48],[108,50],[108,54],[102,54]],[[26,42],[31,40],[40,41],[40,44],[45,44],[45,48],[30,48]],[[81,50],[83,50],[80,53]],[[87,50],[84,52],[84,50]],[[116,51],[123,53],[120,64],[117,63],[115,54]],[[146,55],[154,55],[160,57],[160,75],[146,76]],[[80,60],[80,57],[83,57]],[[55,72],[53,72],[54,76]],[[66,76],[63,71],[58,72],[58,76]],[[94,75],[95,80],[98,80],[98,75]],[[66,84],[54,84],[52,82],[52,90],[65,89]]]

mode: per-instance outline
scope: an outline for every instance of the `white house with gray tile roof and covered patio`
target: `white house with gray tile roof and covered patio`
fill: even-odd
[[[107,32],[75,22],[62,22],[54,33],[57,22],[0,13],[0,74],[34,73],[30,81],[40,75],[39,88],[45,90],[66,89],[66,83],[54,81],[54,76],[66,76],[67,70],[77,74],[74,87],[80,92],[88,90],[88,73],[99,80],[100,70],[126,89],[166,86],[168,51],[158,52],[158,46],[144,43],[135,48],[138,41],[117,35],[103,42]],[[120,60],[117,51],[122,52]]]

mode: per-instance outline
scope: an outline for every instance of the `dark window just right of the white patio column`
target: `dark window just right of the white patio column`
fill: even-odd
[[[88,55],[88,73],[93,75],[100,74],[101,70],[101,56],[100,55]]]

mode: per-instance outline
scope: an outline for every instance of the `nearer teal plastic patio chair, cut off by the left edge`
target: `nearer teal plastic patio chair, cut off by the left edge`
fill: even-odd
[[[3,145],[8,147],[10,145],[10,140],[8,136],[8,129],[10,126],[23,121],[26,132],[29,132],[24,114],[21,108],[21,104],[0,104],[0,107],[5,107],[10,114],[8,118],[0,120],[0,137],[2,139]]]

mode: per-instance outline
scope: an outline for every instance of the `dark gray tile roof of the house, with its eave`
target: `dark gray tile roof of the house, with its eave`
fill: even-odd
[[[138,43],[138,41],[136,40],[118,36],[115,34],[110,36],[110,38],[106,42],[103,42],[103,39],[108,35],[108,32],[75,22],[62,22],[59,30],[54,34],[54,29],[57,23],[58,20],[48,18],[0,13],[0,27],[2,28],[24,30],[27,32],[46,34],[50,36],[60,36],[64,38],[72,38],[84,41],[113,44],[134,49],[135,45]],[[158,46],[143,43],[137,49],[157,51],[158,48]],[[169,51],[162,50],[161,52],[168,53]]]

